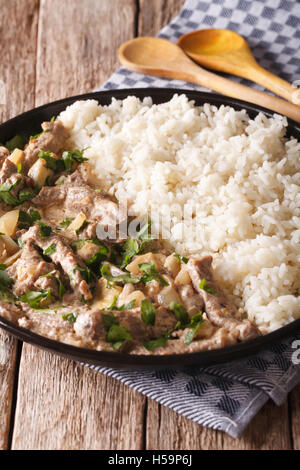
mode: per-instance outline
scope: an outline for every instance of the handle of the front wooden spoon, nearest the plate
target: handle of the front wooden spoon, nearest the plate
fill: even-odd
[[[164,73],[163,76],[170,76],[171,78],[197,83],[198,85],[223,93],[232,98],[248,101],[271,109],[276,113],[283,114],[284,116],[300,122],[300,107],[295,104],[216,75],[208,70],[202,69],[192,62],[186,62],[184,66],[184,70],[168,70],[170,73]]]

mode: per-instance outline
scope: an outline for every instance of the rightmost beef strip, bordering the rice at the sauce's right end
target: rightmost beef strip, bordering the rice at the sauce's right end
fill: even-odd
[[[190,259],[188,271],[194,288],[202,296],[205,312],[208,319],[216,326],[226,328],[238,340],[245,341],[260,335],[258,328],[248,320],[241,321],[236,318],[237,310],[228,299],[213,277],[212,257],[204,256],[201,259]],[[200,283],[205,279],[206,286],[213,289],[214,293],[200,288]]]

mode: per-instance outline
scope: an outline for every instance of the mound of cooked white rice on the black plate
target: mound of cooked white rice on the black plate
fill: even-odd
[[[264,331],[300,317],[300,143],[285,138],[286,118],[175,95],[79,101],[59,119],[111,194],[156,225],[160,214],[165,234],[170,225],[176,252],[213,255],[218,279]]]

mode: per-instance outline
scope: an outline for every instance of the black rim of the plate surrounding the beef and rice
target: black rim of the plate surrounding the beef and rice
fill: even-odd
[[[220,106],[222,104],[239,107],[246,109],[247,112],[259,113],[263,112],[268,117],[277,114],[271,110],[266,109],[262,106],[254,105],[246,101],[230,98],[227,96],[219,95],[216,93],[198,91],[194,89],[181,89],[181,88],[122,88],[122,89],[110,89],[100,90],[90,93],[84,93],[80,95],[66,97],[60,100],[52,101],[36,108],[25,111],[17,116],[0,124],[0,131],[5,127],[11,127],[14,124],[18,124],[18,121],[30,118],[30,116],[38,114],[42,111],[47,111],[48,108],[54,106],[63,105],[66,108],[71,103],[78,100],[96,99],[100,100],[101,97],[108,97],[112,99],[125,99],[127,96],[137,96],[143,98],[146,96],[159,98],[161,95],[169,95],[170,99],[174,94],[186,94],[189,99],[202,100],[203,104],[208,102]],[[163,100],[162,102],[164,102]],[[200,105],[199,105],[200,106]],[[300,132],[300,124],[292,119],[287,118],[288,127],[295,129]],[[22,130],[20,130],[22,133]],[[8,137],[10,138],[10,137]],[[167,368],[174,367],[180,368],[187,365],[213,365],[223,362],[229,362],[234,360],[240,360],[248,357],[272,345],[276,340],[286,338],[293,332],[296,333],[300,330],[300,318],[293,322],[278,328],[277,330],[268,333],[264,336],[245,341],[242,343],[235,344],[233,346],[227,346],[225,348],[214,349],[209,351],[198,351],[193,353],[182,353],[182,354],[166,354],[166,355],[137,355],[137,354],[125,354],[111,351],[97,351],[93,349],[81,348],[70,344],[62,343],[37,333],[32,332],[26,328],[22,328],[19,325],[0,316],[0,327],[6,330],[8,333],[17,337],[18,339],[27,343],[33,344],[42,349],[54,352],[70,359],[86,362],[93,365],[101,365],[108,367],[117,368]]]

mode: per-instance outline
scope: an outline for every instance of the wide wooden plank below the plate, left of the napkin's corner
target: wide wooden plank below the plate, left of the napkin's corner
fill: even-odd
[[[13,449],[140,449],[145,399],[116,380],[26,345]]]

